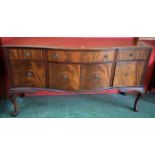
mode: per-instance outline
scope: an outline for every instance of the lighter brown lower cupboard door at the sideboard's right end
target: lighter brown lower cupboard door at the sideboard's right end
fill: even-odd
[[[114,87],[143,85],[145,61],[117,62]]]

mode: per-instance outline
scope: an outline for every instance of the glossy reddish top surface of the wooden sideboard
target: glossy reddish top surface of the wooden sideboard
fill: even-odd
[[[93,49],[135,46],[134,37],[13,37],[3,47]]]

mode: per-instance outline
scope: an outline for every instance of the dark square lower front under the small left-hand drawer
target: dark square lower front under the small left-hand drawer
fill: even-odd
[[[10,62],[13,87],[45,87],[45,65],[42,62]]]

